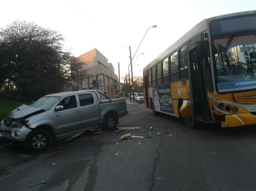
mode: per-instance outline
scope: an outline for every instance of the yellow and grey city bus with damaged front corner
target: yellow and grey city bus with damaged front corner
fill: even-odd
[[[237,127],[256,124],[256,11],[205,19],[143,69],[154,115]]]

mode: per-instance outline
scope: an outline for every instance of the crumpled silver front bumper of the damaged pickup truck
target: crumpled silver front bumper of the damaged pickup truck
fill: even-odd
[[[0,139],[7,139],[9,141],[24,142],[27,135],[31,132],[25,126],[19,128],[6,127],[3,121],[0,124]]]

